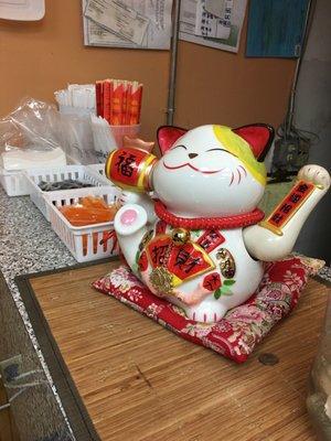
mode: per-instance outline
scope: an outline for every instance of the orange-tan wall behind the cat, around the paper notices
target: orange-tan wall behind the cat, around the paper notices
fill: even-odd
[[[66,83],[138,79],[142,135],[152,138],[166,122],[169,52],[84,47],[81,3],[46,0],[41,22],[0,20],[0,116],[25,95],[53,100]],[[293,61],[245,58],[245,34],[238,55],[180,42],[175,125],[281,121]]]

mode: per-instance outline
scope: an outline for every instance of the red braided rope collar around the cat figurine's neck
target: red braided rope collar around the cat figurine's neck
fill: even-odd
[[[166,206],[160,201],[156,201],[154,208],[157,216],[164,220],[167,224],[175,228],[188,229],[229,229],[238,227],[247,227],[260,222],[265,214],[259,208],[253,209],[249,213],[243,213],[235,216],[226,217],[179,217],[168,212]]]

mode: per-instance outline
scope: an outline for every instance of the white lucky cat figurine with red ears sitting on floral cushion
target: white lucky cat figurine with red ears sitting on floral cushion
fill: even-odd
[[[266,125],[162,127],[160,160],[134,140],[106,163],[107,176],[125,189],[114,225],[128,265],[189,319],[216,322],[245,302],[263,278],[261,260],[290,252],[330,186],[324,169],[305,166],[293,190],[261,222],[256,207],[273,138]],[[152,191],[152,200],[143,191]]]

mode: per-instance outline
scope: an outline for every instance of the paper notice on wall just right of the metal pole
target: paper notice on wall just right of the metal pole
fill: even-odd
[[[238,52],[247,0],[182,0],[180,40]]]

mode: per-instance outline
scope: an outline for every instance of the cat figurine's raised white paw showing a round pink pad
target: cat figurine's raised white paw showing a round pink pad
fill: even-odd
[[[126,204],[116,213],[114,228],[121,236],[137,233],[147,224],[146,211],[137,204]]]

